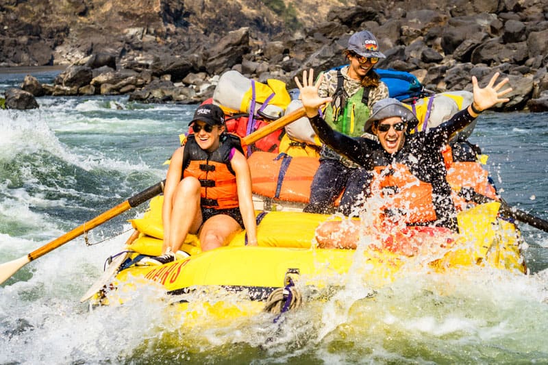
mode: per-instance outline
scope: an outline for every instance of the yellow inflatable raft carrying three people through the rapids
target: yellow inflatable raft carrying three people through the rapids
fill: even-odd
[[[287,294],[288,287],[294,285],[326,288],[340,284],[349,270],[353,270],[353,274],[358,270],[358,275],[371,288],[384,286],[398,275],[413,270],[443,273],[479,265],[525,273],[519,230],[498,216],[500,204],[497,202],[460,212],[460,234],[455,240],[450,244],[436,244],[434,236],[434,244],[430,242],[427,249],[416,255],[402,255],[374,246],[366,235],[356,250],[318,249],[314,247],[316,227],[342,218],[302,212],[257,212],[259,247],[245,247],[242,231],[227,247],[202,253],[197,237],[188,235],[181,250],[190,256],[165,265],[139,266],[140,257],[161,253],[162,198],[152,199],[143,218],[132,221],[136,233],[125,247],[129,252],[111,265],[114,279],[111,275],[110,285],[99,290],[92,303],[123,303],[127,300],[123,293],[153,285],[172,294],[186,316],[196,317],[197,310],[191,309],[192,303],[188,299],[179,300],[178,296],[197,290],[221,290],[227,296],[226,301],[216,297],[206,304],[206,309],[202,303],[198,312],[201,316],[206,311],[210,318],[232,318],[260,312],[273,300],[273,294],[284,287]],[[238,305],[234,304],[235,296]],[[287,295],[279,298],[287,300]]]

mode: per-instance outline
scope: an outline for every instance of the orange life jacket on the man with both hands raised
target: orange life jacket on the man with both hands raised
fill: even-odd
[[[407,224],[431,223],[438,218],[432,203],[432,185],[419,180],[404,164],[375,166],[371,192],[375,191],[390,199],[381,209],[386,217],[399,216]]]

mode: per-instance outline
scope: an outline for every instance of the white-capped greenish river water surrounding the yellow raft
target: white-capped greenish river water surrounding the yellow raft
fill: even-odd
[[[36,73],[52,82],[58,71]],[[0,92],[25,74],[0,74]],[[164,179],[193,105],[43,97],[0,110],[0,263],[27,255]],[[486,112],[470,138],[510,205],[548,219],[548,114]],[[409,273],[367,297],[349,275],[324,303],[188,328],[164,296],[90,310],[79,299],[146,204],[0,286],[0,364],[548,363],[548,234],[521,224],[528,275]]]

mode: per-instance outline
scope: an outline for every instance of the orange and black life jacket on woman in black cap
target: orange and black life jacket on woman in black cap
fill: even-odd
[[[243,153],[242,144],[238,136],[227,133],[221,135],[219,142],[219,148],[208,153],[199,147],[194,134],[190,134],[184,144],[183,178],[192,176],[200,181],[202,207],[238,207],[236,174],[230,161],[233,149]]]

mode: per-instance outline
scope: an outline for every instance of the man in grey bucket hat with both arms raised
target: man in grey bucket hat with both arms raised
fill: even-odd
[[[499,73],[495,73],[485,88],[479,88],[476,77],[472,77],[473,103],[425,133],[409,134],[418,123],[414,114],[397,99],[384,99],[373,106],[373,114],[364,126],[365,131],[371,131],[376,138],[365,135],[351,138],[334,131],[319,116],[319,106],[329,103],[332,98],[318,95],[321,77],[314,86],[313,73],[310,70],[307,77],[304,71],[302,84],[295,77],[312,127],[325,144],[373,173],[373,181],[369,181],[365,194],[387,199],[388,203],[382,207],[382,217],[458,231],[441,151],[453,133],[472,123],[483,110],[509,101],[501,98],[512,90],[501,90],[508,78],[495,85],[499,77]],[[327,244],[332,244],[329,243],[331,239],[326,240]]]

